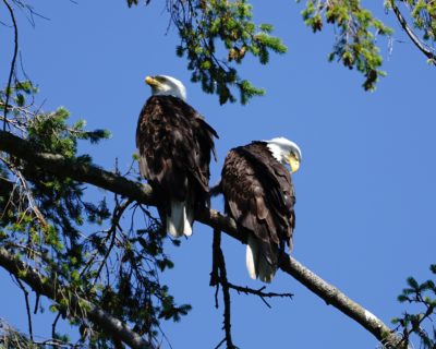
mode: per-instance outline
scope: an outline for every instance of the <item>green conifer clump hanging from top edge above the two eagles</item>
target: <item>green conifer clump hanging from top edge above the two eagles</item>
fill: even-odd
[[[253,7],[246,0],[175,0],[167,1],[167,9],[181,40],[177,55],[186,57],[191,80],[204,92],[218,95],[220,104],[234,103],[234,91],[242,104],[265,94],[240,77],[237,65],[246,55],[266,64],[270,52],[284,53],[287,48],[271,35],[272,25],[253,22]]]

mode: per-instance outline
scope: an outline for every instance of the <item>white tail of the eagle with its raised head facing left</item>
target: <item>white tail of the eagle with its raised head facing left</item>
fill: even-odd
[[[186,213],[187,210],[187,213]],[[194,213],[186,207],[185,202],[171,201],[171,215],[167,216],[167,231],[173,238],[192,234]]]

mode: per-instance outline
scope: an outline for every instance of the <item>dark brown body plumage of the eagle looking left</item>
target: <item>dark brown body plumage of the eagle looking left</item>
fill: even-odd
[[[136,129],[142,174],[160,191],[159,196],[185,201],[190,188],[204,205],[214,136],[218,137],[216,131],[182,99],[152,96]]]

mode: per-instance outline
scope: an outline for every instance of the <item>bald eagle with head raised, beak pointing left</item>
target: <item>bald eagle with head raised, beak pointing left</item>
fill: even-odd
[[[215,156],[218,135],[186,104],[179,80],[157,75],[145,82],[153,96],[137,121],[140,170],[156,194],[167,231],[175,238],[191,236],[195,209],[208,202],[210,153]]]

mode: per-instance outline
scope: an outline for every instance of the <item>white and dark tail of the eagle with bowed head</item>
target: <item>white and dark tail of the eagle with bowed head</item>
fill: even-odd
[[[262,253],[259,241],[252,236],[249,236],[246,244],[246,269],[252,279],[259,278],[264,282],[270,282],[276,274],[276,268]]]

